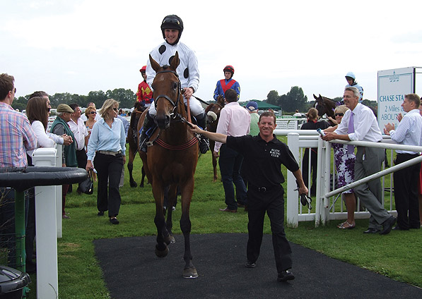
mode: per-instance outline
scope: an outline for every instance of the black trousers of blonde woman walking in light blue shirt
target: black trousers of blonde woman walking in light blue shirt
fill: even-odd
[[[112,156],[97,152],[94,158],[95,169],[98,177],[97,207],[98,211],[108,210],[109,217],[119,214],[122,199],[119,193],[119,181],[123,168],[122,154]],[[107,193],[108,180],[108,193]]]

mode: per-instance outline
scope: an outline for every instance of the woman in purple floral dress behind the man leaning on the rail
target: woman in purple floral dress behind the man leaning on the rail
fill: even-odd
[[[344,116],[344,113],[348,108],[344,105],[337,106],[334,110],[334,117],[336,118],[336,123],[341,123],[341,119]],[[330,127],[324,130],[325,133],[333,132],[337,126]],[[336,164],[337,170],[337,186],[336,188],[344,187],[350,183],[353,183],[355,178],[355,172],[353,168],[355,166],[355,152],[348,152],[347,145],[342,145],[340,143],[332,143],[332,148],[334,150],[334,162]],[[344,193],[344,202],[346,203],[347,209],[347,220],[339,224],[337,227],[341,229],[352,229],[355,228],[355,208],[356,208],[356,197],[353,193],[353,189],[346,190]]]

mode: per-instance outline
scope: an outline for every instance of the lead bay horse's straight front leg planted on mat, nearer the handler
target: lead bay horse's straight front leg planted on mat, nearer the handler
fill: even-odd
[[[192,264],[192,253],[190,250],[190,231],[191,221],[189,219],[189,208],[194,193],[194,179],[182,186],[182,218],[180,218],[180,229],[184,236],[184,270],[183,277],[187,279],[195,279],[198,277],[197,269]]]

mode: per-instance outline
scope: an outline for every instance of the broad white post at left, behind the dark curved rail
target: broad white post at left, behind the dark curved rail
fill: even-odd
[[[59,149],[61,152],[61,148]],[[57,149],[44,147],[33,152],[35,166],[56,166]],[[61,161],[59,166],[61,166]],[[37,231],[37,298],[58,298],[56,186],[35,187]],[[61,194],[60,194],[61,202]],[[61,213],[61,212],[60,212]],[[61,220],[61,217],[60,217]]]

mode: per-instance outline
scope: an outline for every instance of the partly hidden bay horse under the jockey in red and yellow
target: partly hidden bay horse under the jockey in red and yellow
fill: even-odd
[[[131,114],[130,118],[130,125],[129,130],[127,130],[127,143],[129,143],[129,161],[127,162],[127,169],[129,170],[129,183],[131,187],[136,187],[138,184],[134,180],[134,176],[132,176],[132,171],[134,169],[134,159],[136,157],[136,153],[138,152],[138,121],[141,118],[141,114],[145,111],[146,107],[142,106],[141,102],[135,102],[134,104],[134,111]],[[145,169],[142,166],[142,178],[141,178],[141,185],[139,187],[143,188],[143,183],[145,181]]]

